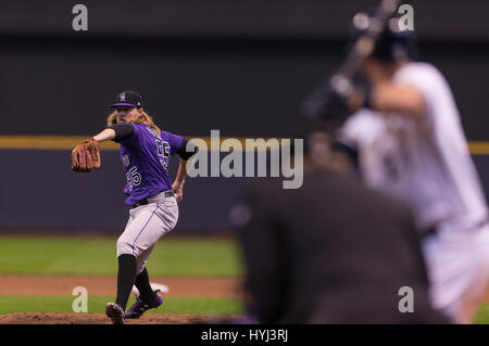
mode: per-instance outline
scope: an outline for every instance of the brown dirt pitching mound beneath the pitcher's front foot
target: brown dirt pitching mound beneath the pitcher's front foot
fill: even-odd
[[[148,315],[126,324],[200,324],[225,322],[230,316],[220,315]],[[112,324],[104,313],[22,312],[0,316],[0,324]]]

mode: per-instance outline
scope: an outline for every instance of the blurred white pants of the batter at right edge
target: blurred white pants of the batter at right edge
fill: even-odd
[[[471,323],[489,280],[489,226],[461,232],[443,226],[423,242],[436,309],[454,323]]]

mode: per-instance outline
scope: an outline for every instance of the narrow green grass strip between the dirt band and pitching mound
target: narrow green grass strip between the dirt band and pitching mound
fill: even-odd
[[[0,295],[0,315],[14,312],[73,312],[76,296],[7,296]],[[88,313],[103,313],[113,296],[89,296]],[[134,303],[129,299],[127,306]],[[163,306],[147,313],[224,313],[239,315],[242,302],[238,298],[165,298]]]

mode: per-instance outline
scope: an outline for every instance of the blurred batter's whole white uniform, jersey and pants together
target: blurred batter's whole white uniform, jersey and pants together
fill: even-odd
[[[460,115],[446,79],[432,65],[409,63],[392,78],[423,93],[416,118],[361,110],[341,129],[359,146],[368,185],[408,201],[423,239],[434,306],[469,322],[489,273],[488,209]]]

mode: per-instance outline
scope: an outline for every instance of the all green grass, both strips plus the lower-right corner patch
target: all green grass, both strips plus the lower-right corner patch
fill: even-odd
[[[116,275],[116,238],[0,236],[0,274]],[[239,277],[239,247],[233,239],[163,236],[148,261],[151,275]],[[13,312],[73,312],[75,296],[0,295],[0,315]],[[113,296],[89,296],[88,312],[103,312]],[[129,302],[133,304],[134,298]],[[148,313],[241,313],[238,298],[165,299],[164,309]],[[476,324],[489,324],[489,305],[478,311]]]

